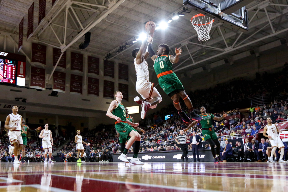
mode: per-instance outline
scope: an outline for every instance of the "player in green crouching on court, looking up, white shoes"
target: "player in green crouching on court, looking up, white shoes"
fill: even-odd
[[[125,108],[122,105],[122,98],[123,98],[122,92],[116,91],[114,93],[115,100],[110,103],[109,109],[107,110],[106,113],[108,117],[116,120],[115,129],[120,134],[120,140],[119,140],[120,143],[123,142],[122,140],[127,140],[127,138],[130,137],[130,139],[126,143],[123,153],[119,156],[119,159],[126,163],[130,162],[132,164],[143,164],[140,161],[140,159],[138,159],[141,136],[138,132],[134,131],[130,127],[130,126],[138,127],[139,123],[132,123],[131,121],[126,119]],[[134,151],[133,158],[130,161],[128,161],[126,154],[134,142],[135,142],[135,148],[138,150]]]

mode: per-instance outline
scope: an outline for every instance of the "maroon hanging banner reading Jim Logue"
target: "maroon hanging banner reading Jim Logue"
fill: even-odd
[[[37,62],[46,65],[46,50],[46,45],[32,43],[31,62]]]

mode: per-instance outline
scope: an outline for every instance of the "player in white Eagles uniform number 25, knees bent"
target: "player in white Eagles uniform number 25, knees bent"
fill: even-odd
[[[272,120],[270,117],[268,117],[266,121],[267,121],[267,125],[264,127],[263,136],[269,138],[271,147],[272,147],[271,157],[269,158],[268,162],[273,162],[273,154],[275,153],[278,147],[281,150],[280,159],[278,162],[285,163],[286,161],[283,160],[285,146],[278,135],[278,132],[281,133],[281,130],[278,130],[277,126],[275,124],[272,124]]]

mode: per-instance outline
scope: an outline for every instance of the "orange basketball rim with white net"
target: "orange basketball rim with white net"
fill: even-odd
[[[203,14],[198,14],[192,17],[190,21],[194,29],[197,31],[199,41],[207,41],[210,39],[209,32],[214,19],[211,19]]]

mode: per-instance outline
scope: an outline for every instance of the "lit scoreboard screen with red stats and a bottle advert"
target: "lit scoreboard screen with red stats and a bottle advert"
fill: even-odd
[[[22,55],[0,52],[0,84],[25,86],[24,59],[26,60],[26,57]]]

